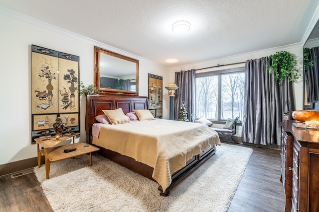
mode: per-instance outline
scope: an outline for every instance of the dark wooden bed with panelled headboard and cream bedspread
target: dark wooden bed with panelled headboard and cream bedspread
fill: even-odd
[[[98,153],[102,156],[158,182],[162,196],[169,195],[169,191],[178,182],[215,154],[216,145],[220,144],[218,134],[205,125],[171,120],[155,119],[101,125],[98,135],[92,131],[96,125],[100,125],[96,117],[104,115],[102,110],[119,109],[124,114],[134,110],[147,112],[148,98],[122,95],[87,96],[87,142],[99,146]],[[197,133],[200,136],[196,136]],[[182,145],[177,142],[186,142],[187,147],[180,147]],[[198,143],[195,145],[196,142]]]

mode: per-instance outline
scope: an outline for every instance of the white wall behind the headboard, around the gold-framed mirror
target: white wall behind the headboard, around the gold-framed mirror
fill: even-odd
[[[140,96],[148,96],[148,73],[163,76],[163,84],[169,81],[167,68],[86,38],[3,14],[0,14],[0,26],[0,164],[37,155],[36,145],[31,144],[32,44],[79,56],[80,80],[85,85],[93,84],[94,45],[140,60]],[[163,105],[167,105],[168,101],[168,95],[164,94]],[[80,141],[86,138],[85,104],[81,100]],[[168,113],[168,106],[164,107],[163,118],[168,118]]]

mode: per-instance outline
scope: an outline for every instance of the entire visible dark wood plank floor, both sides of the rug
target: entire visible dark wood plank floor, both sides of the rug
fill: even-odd
[[[243,144],[234,144],[243,145]],[[228,212],[283,212],[280,150],[254,149]],[[34,173],[0,178],[0,212],[51,212]]]

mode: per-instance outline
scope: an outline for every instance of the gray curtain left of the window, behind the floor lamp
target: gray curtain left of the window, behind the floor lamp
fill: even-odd
[[[195,113],[195,73],[196,70],[179,71],[175,72],[175,84],[178,89],[175,90],[174,101],[174,119],[178,119],[178,112],[182,102],[185,102],[185,108],[187,110],[187,118],[190,121],[190,114]]]

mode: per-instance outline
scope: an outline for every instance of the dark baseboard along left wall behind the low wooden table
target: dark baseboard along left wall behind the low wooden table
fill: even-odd
[[[41,164],[44,164],[44,156],[41,156]],[[10,175],[15,172],[33,168],[38,165],[37,157],[31,157],[24,160],[18,160],[0,165],[0,177]]]

